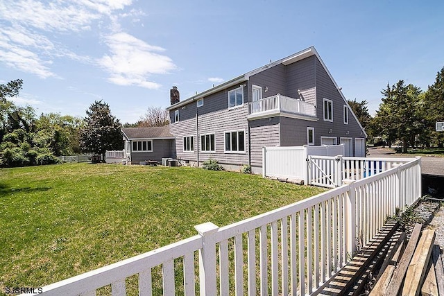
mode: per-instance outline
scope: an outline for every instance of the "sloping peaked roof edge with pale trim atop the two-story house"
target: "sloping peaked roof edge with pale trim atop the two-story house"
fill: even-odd
[[[341,98],[343,98],[345,105],[348,106],[348,110],[350,110],[350,112],[352,113],[352,116],[357,121],[359,128],[361,128],[362,132],[364,132],[365,136],[367,137],[367,133],[364,130],[364,128],[362,127],[359,120],[357,119],[355,112],[353,112],[350,105],[348,105],[348,101],[345,98],[345,96],[343,95],[341,88],[337,85],[336,81],[334,81],[332,74],[330,73],[330,71],[328,71],[323,60],[321,59],[321,56],[319,55],[318,51],[316,51],[314,46],[310,46],[308,49],[298,51],[297,53],[294,53],[293,55],[289,55],[287,58],[283,58],[283,59],[277,60],[275,62],[271,62],[270,64],[266,64],[265,66],[257,68],[253,71],[249,71],[249,72],[245,73],[244,75],[237,76],[236,78],[233,78],[232,80],[228,80],[227,82],[223,82],[221,85],[217,85],[216,87],[212,87],[211,89],[207,89],[206,91],[201,92],[200,94],[196,94],[195,96],[191,96],[190,98],[187,98],[184,101],[180,101],[176,104],[173,104],[173,105],[167,107],[167,110],[172,110],[172,109],[176,109],[178,107],[182,107],[183,105],[187,105],[188,103],[191,103],[192,101],[197,101],[200,98],[204,98],[205,96],[209,96],[210,94],[214,94],[214,93],[220,92],[221,90],[226,89],[228,87],[232,87],[234,85],[237,85],[241,82],[248,80],[248,78],[250,78],[250,76],[253,76],[257,73],[265,71],[266,69],[269,69],[271,67],[275,67],[278,64],[284,64],[285,66],[287,66],[288,64],[293,64],[293,62],[298,62],[298,61],[303,60],[305,58],[309,58],[309,57],[311,57],[311,55],[316,55],[316,58],[318,58],[319,62],[321,62],[321,65],[324,68],[325,72],[327,72],[327,75],[330,77],[330,80],[332,80],[334,87],[336,87],[336,89],[339,92],[339,95],[341,96]]]

